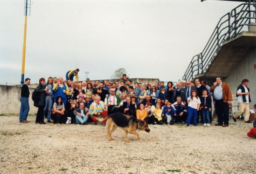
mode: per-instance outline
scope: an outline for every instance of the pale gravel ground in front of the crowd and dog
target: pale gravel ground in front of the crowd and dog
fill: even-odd
[[[101,125],[18,123],[0,117],[2,174],[255,174],[256,139],[252,124],[218,126],[149,125],[141,140],[124,131],[107,140]]]

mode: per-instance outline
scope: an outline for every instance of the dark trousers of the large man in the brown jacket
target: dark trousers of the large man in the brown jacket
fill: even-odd
[[[229,124],[229,112],[228,104],[224,103],[223,100],[215,100],[215,112],[218,117],[218,123],[228,125]]]

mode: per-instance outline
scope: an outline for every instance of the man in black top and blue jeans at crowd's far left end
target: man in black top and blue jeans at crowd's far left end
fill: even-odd
[[[25,83],[21,87],[20,123],[28,123],[27,117],[29,114],[29,84],[30,84],[30,79],[26,78]]]

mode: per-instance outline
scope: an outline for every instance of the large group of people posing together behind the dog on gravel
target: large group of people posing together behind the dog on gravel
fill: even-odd
[[[222,82],[221,77],[210,87],[206,80],[196,78],[192,81],[176,83],[156,82],[154,85],[139,82],[133,83],[123,74],[121,83],[118,81],[90,81],[87,79],[79,83],[79,69],[70,70],[66,80],[62,77],[49,77],[39,79],[35,89],[39,100],[34,103],[38,107],[36,123],[77,123],[87,124],[98,120],[94,115],[106,117],[114,112],[144,120],[149,117],[148,124],[173,125],[175,123],[192,123],[197,126],[199,121],[204,126],[212,122],[212,99],[218,123],[215,126],[227,127],[229,125],[229,103],[233,100],[230,87]],[[76,82],[73,77],[76,76]],[[133,84],[132,84],[133,83]],[[249,121],[250,89],[249,80],[242,80],[237,89],[239,111],[233,116],[236,121],[244,112],[245,123]],[[21,88],[20,123],[27,123],[29,111],[28,97],[30,79],[25,80]],[[105,121],[102,121],[105,126]]]

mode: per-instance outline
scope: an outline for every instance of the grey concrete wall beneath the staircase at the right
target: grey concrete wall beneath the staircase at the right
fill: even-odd
[[[253,105],[256,104],[256,69],[254,65],[256,64],[256,48],[251,48],[248,51],[244,60],[239,63],[238,66],[233,67],[233,71],[229,77],[223,79],[224,82],[230,85],[232,94],[236,94],[236,89],[241,84],[243,79],[248,79],[250,88],[250,97],[252,103],[250,104],[250,109],[253,109]]]

